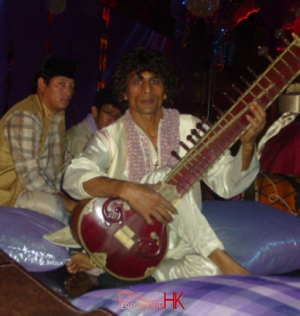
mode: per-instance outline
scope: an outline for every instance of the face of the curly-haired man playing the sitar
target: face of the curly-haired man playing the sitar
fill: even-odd
[[[156,114],[167,99],[163,80],[148,71],[137,75],[135,71],[128,76],[127,91],[123,96],[128,100],[130,112],[136,114]]]

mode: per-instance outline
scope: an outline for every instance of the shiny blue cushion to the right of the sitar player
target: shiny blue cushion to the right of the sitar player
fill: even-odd
[[[225,250],[256,275],[300,269],[300,218],[254,201],[204,201]]]

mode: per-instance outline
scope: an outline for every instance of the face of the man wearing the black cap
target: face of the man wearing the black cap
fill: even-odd
[[[73,96],[74,87],[75,81],[67,77],[53,77],[49,84],[46,84],[42,77],[38,78],[38,95],[54,114],[66,110]]]

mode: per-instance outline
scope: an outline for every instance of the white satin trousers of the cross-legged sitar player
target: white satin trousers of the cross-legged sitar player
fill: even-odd
[[[164,167],[144,176],[144,183],[158,183],[165,178],[170,168]],[[200,195],[200,192],[198,193]],[[169,242],[165,259],[154,271],[157,281],[193,276],[215,276],[222,274],[209,255],[213,250],[223,250],[223,243],[213,232],[207,218],[201,213],[193,192],[184,195],[175,207],[178,214],[168,224]]]

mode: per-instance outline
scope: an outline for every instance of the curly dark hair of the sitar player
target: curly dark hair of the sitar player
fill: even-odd
[[[149,50],[146,47],[137,47],[121,56],[112,78],[114,98],[123,108],[128,107],[128,101],[123,100],[123,95],[126,93],[128,75],[133,71],[137,71],[137,75],[149,71],[163,79],[165,94],[167,95],[163,105],[164,107],[172,107],[172,99],[177,94],[178,77],[168,63],[166,54],[158,50]]]

